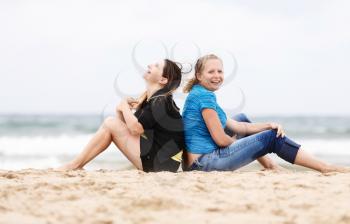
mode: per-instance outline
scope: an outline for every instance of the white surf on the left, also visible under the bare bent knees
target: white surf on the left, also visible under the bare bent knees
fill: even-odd
[[[80,153],[91,137],[92,134],[0,137],[0,169],[58,167]],[[92,164],[90,167],[114,169],[129,162],[112,143]]]

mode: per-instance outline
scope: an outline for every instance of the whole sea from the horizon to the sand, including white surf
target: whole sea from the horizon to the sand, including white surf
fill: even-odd
[[[255,116],[277,122],[311,154],[350,165],[350,117]],[[0,169],[55,168],[73,159],[103,121],[100,115],[0,115]],[[274,158],[274,156],[272,156]],[[86,169],[129,169],[131,163],[112,143]]]

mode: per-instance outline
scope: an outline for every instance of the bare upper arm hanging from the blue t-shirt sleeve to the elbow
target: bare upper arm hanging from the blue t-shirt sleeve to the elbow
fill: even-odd
[[[234,142],[234,139],[225,133],[215,110],[209,108],[203,109],[202,116],[211,137],[218,146],[226,147]]]

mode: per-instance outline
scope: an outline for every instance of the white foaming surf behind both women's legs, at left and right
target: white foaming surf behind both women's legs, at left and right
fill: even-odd
[[[0,137],[0,169],[57,167],[74,158],[92,134]],[[296,139],[311,154],[333,163],[350,165],[350,139]],[[119,169],[130,165],[112,143],[88,168]]]

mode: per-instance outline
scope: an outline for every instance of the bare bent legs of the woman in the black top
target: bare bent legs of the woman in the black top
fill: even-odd
[[[103,152],[111,142],[137,168],[142,170],[140,159],[140,136],[131,135],[126,124],[119,117],[107,117],[83,151],[59,170],[82,169],[88,162]]]

